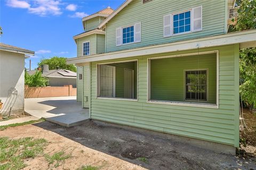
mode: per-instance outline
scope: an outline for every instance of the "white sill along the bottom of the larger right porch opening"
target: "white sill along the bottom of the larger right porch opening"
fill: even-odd
[[[219,106],[217,104],[193,103],[193,102],[182,102],[182,101],[148,100],[148,103],[164,104],[164,105],[175,105],[175,106],[219,108]]]

